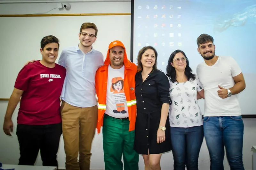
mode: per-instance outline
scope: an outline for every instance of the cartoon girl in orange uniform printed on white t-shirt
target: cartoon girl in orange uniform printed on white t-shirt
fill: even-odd
[[[113,92],[112,97],[116,104],[116,110],[113,110],[113,112],[116,114],[125,114],[127,111],[125,111],[126,98],[124,94],[124,79],[121,77],[115,77],[112,78],[111,83],[110,92]]]

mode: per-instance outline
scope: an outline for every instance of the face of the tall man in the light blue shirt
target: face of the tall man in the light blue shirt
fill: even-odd
[[[90,47],[96,41],[97,37],[95,35],[95,30],[92,28],[86,28],[79,33],[80,44],[84,47]]]

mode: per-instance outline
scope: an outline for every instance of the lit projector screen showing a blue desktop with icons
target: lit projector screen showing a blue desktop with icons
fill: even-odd
[[[189,66],[204,62],[196,39],[210,34],[215,55],[232,56],[242,69],[246,88],[238,94],[244,118],[256,118],[256,1],[255,0],[132,0],[131,61],[144,46],[158,52],[157,67],[166,72],[171,53],[185,52]],[[203,106],[204,101],[201,101]],[[202,112],[204,106],[201,107]]]

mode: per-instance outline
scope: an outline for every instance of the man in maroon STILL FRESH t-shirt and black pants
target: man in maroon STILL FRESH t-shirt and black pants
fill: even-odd
[[[55,63],[59,40],[46,36],[41,41],[42,60],[24,66],[16,79],[4,117],[4,133],[11,136],[12,114],[20,100],[17,137],[19,165],[34,165],[39,149],[43,166],[57,166],[61,129],[60,94],[66,69]]]

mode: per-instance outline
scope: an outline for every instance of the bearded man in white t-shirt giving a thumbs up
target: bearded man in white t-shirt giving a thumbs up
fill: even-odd
[[[204,58],[196,72],[204,87],[203,126],[210,170],[224,170],[224,146],[231,170],[244,170],[244,123],[237,98],[245,89],[243,73],[232,57],[215,55],[212,36],[201,34],[197,46]]]

